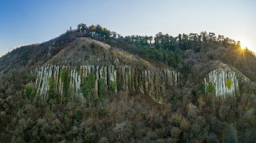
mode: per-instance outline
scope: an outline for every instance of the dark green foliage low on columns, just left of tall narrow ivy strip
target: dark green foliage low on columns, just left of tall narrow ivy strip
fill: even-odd
[[[56,84],[53,81],[53,77],[50,77],[48,79],[48,86],[49,89],[47,91],[47,103],[51,102],[51,103],[57,103],[58,100],[58,96],[57,93],[55,92],[55,88],[56,88]]]

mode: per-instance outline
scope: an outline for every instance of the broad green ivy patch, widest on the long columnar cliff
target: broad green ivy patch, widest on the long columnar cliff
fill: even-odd
[[[82,80],[82,95],[87,101],[94,102],[96,97],[95,93],[95,80],[96,76],[93,73],[89,73],[86,79]]]

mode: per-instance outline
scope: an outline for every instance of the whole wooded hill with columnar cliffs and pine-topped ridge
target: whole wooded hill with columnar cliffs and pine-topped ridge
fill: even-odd
[[[254,142],[255,71],[214,33],[79,24],[0,58],[0,141]]]

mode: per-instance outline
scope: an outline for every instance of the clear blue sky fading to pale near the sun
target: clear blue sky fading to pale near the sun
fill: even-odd
[[[0,0],[0,56],[48,41],[79,23],[122,34],[214,32],[256,52],[255,0]]]

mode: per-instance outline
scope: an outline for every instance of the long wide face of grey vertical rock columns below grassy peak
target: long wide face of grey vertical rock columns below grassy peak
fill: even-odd
[[[35,87],[37,96],[46,99],[49,89],[49,79],[53,78],[55,92],[64,100],[64,83],[61,78],[61,72],[67,71],[69,78],[69,87],[72,89],[74,97],[82,97],[81,83],[86,79],[89,73],[95,76],[96,98],[101,96],[99,93],[99,79],[103,79],[109,90],[115,94],[119,90],[127,90],[130,93],[147,94],[154,101],[163,103],[164,97],[182,81],[179,72],[170,70],[138,70],[131,66],[93,66],[84,65],[80,67],[45,65],[36,68],[32,73],[35,77]],[[85,80],[84,80],[85,81]],[[86,82],[86,81],[85,81]]]

